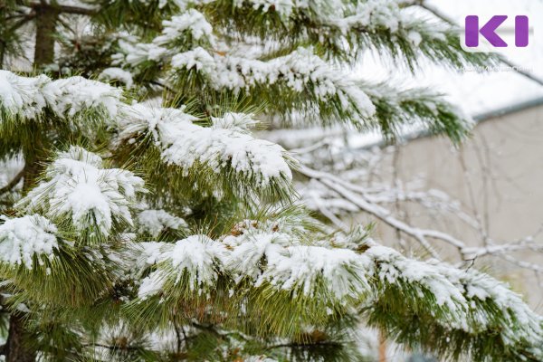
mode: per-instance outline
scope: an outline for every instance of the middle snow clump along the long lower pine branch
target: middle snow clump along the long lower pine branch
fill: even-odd
[[[228,268],[252,278],[256,287],[269,282],[279,290],[315,297],[323,285],[336,300],[357,298],[369,287],[369,259],[348,249],[302,245],[292,235],[255,229],[228,236],[224,243],[233,246]]]

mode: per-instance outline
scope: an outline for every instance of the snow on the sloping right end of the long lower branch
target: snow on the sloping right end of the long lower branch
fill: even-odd
[[[438,305],[446,306],[450,314],[446,320],[438,320],[444,326],[466,331],[483,328],[496,329],[500,325],[500,337],[507,345],[528,340],[538,343],[543,336],[541,319],[501,281],[478,271],[452,268],[439,262],[410,260],[384,246],[372,245],[365,254],[376,262],[375,274],[383,282],[395,284],[408,282],[430,291]],[[491,302],[498,310],[483,308],[481,303]],[[496,319],[499,312],[504,319]],[[521,329],[510,329],[519,323]]]

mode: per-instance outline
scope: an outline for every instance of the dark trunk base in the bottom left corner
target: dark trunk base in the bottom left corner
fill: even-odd
[[[23,318],[15,312],[9,319],[9,335],[5,342],[5,362],[34,362],[36,353],[30,345],[27,333],[23,328]]]

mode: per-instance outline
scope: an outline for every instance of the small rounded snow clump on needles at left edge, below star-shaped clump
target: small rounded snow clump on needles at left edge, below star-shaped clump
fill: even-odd
[[[58,249],[57,228],[38,214],[9,219],[2,217],[0,225],[0,262],[24,265],[32,269],[34,257],[43,263],[42,257],[54,258]]]

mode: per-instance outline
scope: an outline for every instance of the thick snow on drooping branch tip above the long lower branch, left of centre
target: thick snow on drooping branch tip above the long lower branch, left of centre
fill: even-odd
[[[128,140],[149,132],[163,160],[185,170],[200,163],[217,173],[232,169],[261,186],[269,185],[271,180],[290,181],[286,151],[270,141],[241,132],[232,122],[233,117],[226,114],[224,121],[214,119],[214,127],[201,127],[193,123],[195,117],[183,110],[137,104],[127,107],[124,117],[119,119],[119,138]]]

